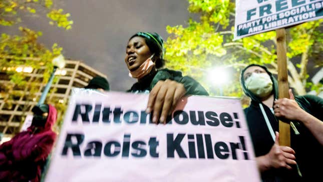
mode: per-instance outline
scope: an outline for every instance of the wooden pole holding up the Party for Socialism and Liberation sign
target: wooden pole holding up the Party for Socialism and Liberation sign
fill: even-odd
[[[286,56],[286,32],[285,29],[276,30],[277,40],[277,65],[278,65],[278,97],[289,98],[288,94],[288,70]],[[290,146],[289,123],[279,120],[279,144]]]

